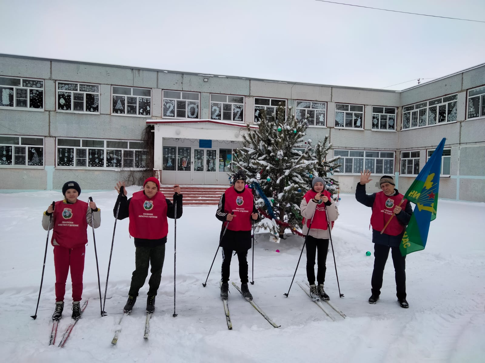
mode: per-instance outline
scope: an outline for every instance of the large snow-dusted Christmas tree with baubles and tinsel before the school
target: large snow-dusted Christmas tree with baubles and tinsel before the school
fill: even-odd
[[[261,115],[259,129],[247,127],[242,136],[242,148],[234,152],[235,170],[246,172],[255,189],[258,207],[267,218],[258,227],[283,237],[286,228],[291,232],[301,229],[300,203],[311,186],[315,173],[327,175],[338,165],[325,161],[330,146],[328,137],[315,148],[305,140],[307,122],[299,122],[288,108],[278,106],[276,115]],[[268,120],[269,119],[269,120]],[[313,150],[314,149],[314,150]],[[327,177],[328,184],[337,183]],[[276,238],[276,237],[275,237]],[[277,239],[277,238],[276,238]]]

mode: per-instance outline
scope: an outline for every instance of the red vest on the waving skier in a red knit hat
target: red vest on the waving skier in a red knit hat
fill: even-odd
[[[162,192],[148,198],[143,190],[129,201],[129,234],[134,238],[159,240],[168,234],[167,202]]]

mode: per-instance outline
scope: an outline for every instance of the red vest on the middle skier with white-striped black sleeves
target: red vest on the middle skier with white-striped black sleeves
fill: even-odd
[[[224,212],[236,216],[227,226],[231,231],[250,231],[251,213],[253,212],[253,193],[249,188],[244,188],[242,193],[236,192],[234,187],[229,187],[224,192]]]

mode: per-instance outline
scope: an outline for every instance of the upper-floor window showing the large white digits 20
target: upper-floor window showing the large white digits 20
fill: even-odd
[[[174,119],[199,118],[200,93],[163,91],[163,117]]]

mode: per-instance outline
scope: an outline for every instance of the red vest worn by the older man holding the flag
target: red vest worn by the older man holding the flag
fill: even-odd
[[[389,218],[393,213],[395,206],[401,203],[404,196],[398,194],[395,196],[388,197],[384,192],[378,192],[375,194],[374,204],[372,204],[372,215],[371,215],[371,225],[372,229],[376,231],[382,231],[382,228],[386,225]],[[401,204],[401,208],[406,208],[407,200],[404,200]],[[404,213],[404,212],[403,212]],[[393,217],[386,227],[384,233],[389,236],[397,236],[403,233],[405,226],[403,226],[396,217]]]

